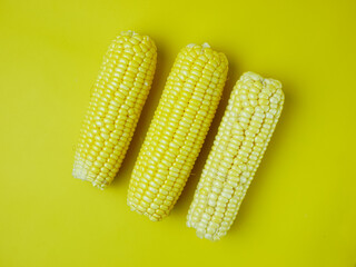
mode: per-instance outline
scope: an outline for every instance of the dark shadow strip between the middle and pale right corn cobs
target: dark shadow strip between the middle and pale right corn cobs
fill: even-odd
[[[229,55],[226,53],[226,56],[227,56],[227,58],[229,58]],[[172,216],[175,216],[175,214],[177,214],[179,216],[181,214],[184,214],[184,216],[186,216],[188,212],[188,208],[190,206],[190,202],[194,197],[194,192],[195,192],[197,185],[198,185],[198,181],[200,179],[204,165],[208,158],[208,155],[211,149],[215,136],[218,131],[219,123],[220,123],[221,118],[224,116],[225,109],[228,105],[228,100],[229,100],[231,90],[233,90],[239,76],[240,76],[240,73],[238,73],[236,65],[234,62],[229,62],[229,70],[228,70],[228,75],[227,75],[226,85],[224,87],[221,100],[219,102],[216,115],[215,115],[214,120],[211,122],[211,127],[210,127],[210,129],[207,134],[207,137],[205,139],[205,142],[201,147],[200,154],[199,154],[199,156],[195,162],[195,166],[190,172],[190,177],[188,178],[187,184],[185,186],[185,189],[182,190],[175,208],[171,211]]]

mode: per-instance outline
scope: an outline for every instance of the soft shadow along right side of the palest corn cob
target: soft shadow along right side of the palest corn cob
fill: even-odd
[[[260,200],[257,196],[266,190],[265,185],[268,182],[267,178],[271,176],[269,166],[278,165],[275,160],[276,156],[283,154],[284,137],[291,127],[294,116],[297,110],[296,96],[293,93],[295,89],[286,80],[281,79],[283,90],[285,93],[285,103],[276,126],[275,132],[268,144],[265,156],[258,167],[251,185],[249,186],[246,197],[239,208],[235,222],[233,224],[228,235],[238,235],[238,230],[249,225],[249,211],[258,205]],[[280,158],[280,157],[277,157]],[[281,177],[281,176],[278,176]],[[287,177],[284,177],[286,179]],[[283,200],[283,199],[281,199]]]

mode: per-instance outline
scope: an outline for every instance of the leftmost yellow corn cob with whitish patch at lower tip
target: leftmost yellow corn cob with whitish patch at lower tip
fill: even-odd
[[[73,177],[105,188],[115,178],[131,141],[156,68],[147,36],[127,31],[110,44],[76,148]]]

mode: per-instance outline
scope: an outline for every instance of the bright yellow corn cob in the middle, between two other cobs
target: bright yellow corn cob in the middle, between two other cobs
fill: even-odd
[[[179,52],[134,168],[132,210],[154,221],[169,214],[215,116],[227,69],[225,55],[207,43]]]

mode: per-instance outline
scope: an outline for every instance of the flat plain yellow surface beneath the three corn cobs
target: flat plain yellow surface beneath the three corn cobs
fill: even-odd
[[[154,38],[158,66],[115,182],[71,177],[89,91],[121,30]],[[0,2],[0,266],[356,265],[356,2]],[[151,222],[126,205],[130,172],[179,49],[229,59],[217,117],[181,198]],[[228,236],[185,226],[229,91],[247,71],[279,79],[285,109]]]

